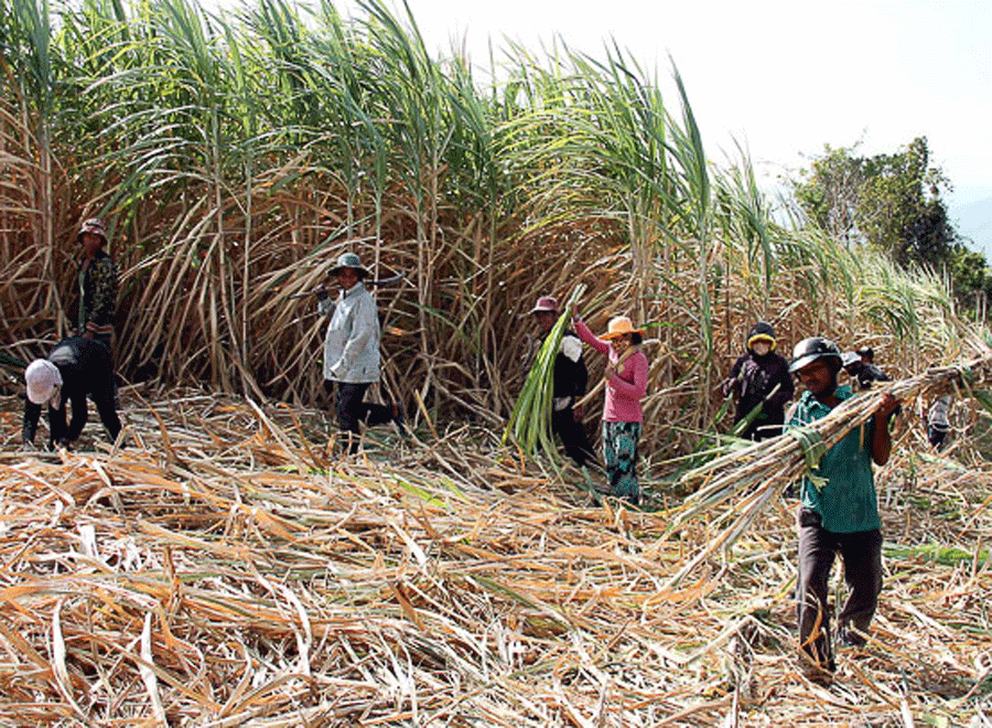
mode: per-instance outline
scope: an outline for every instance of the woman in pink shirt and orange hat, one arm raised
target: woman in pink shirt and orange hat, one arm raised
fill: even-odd
[[[573,309],[572,325],[586,344],[610,358],[606,365],[606,404],[603,407],[603,458],[610,491],[630,503],[640,502],[637,484],[637,442],[644,424],[640,400],[647,393],[648,362],[640,351],[644,331],[625,315],[610,320],[597,339]]]

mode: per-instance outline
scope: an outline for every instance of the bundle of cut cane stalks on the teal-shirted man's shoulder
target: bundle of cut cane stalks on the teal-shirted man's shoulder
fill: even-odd
[[[838,405],[827,417],[804,427],[789,428],[772,440],[731,450],[686,472],[679,484],[694,491],[672,518],[668,533],[692,518],[708,516],[711,528],[722,528],[669,581],[678,585],[718,549],[726,552],[764,513],[781,497],[792,482],[809,473],[820,457],[851,430],[864,425],[891,392],[906,400],[919,395],[946,392],[960,385],[966,394],[985,404],[988,395],[974,385],[992,379],[992,352],[962,365],[932,367],[917,376],[886,382]],[[992,405],[992,402],[990,402]]]

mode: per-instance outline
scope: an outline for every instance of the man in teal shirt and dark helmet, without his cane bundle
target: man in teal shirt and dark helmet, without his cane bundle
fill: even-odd
[[[838,386],[841,353],[829,339],[812,336],[796,344],[789,371],[806,392],[786,417],[786,428],[822,419],[854,396]],[[884,465],[892,452],[888,416],[898,406],[891,394],[871,419],[851,430],[802,479],[799,510],[799,577],[796,586],[799,649],[811,677],[829,681],[834,660],[830,641],[828,579],[837,552],[844,563],[850,593],[838,617],[838,636],[863,644],[882,591],[882,523],[872,462]]]

